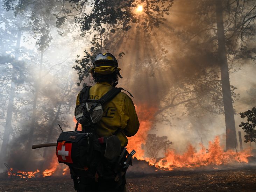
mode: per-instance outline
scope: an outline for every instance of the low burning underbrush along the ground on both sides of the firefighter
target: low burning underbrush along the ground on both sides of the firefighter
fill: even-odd
[[[140,151],[138,152],[140,154]],[[136,154],[135,154],[136,155]],[[177,154],[175,151],[169,150],[166,152],[166,156],[159,159],[143,158],[143,156],[135,156],[133,160],[133,167],[128,172],[130,174],[145,175],[153,173],[164,173],[166,171],[180,170],[210,170],[210,169],[232,169],[240,167],[248,163],[248,157],[250,157],[249,150],[224,151],[219,144],[219,137],[216,137],[213,142],[209,142],[208,149],[202,148],[199,152],[195,151],[192,145],[187,147],[187,151],[183,154]],[[13,168],[8,171],[8,176],[12,176]],[[34,178],[34,177],[49,177],[49,176],[61,176],[69,175],[69,169],[64,164],[59,164],[57,157],[52,157],[52,162],[49,168],[44,171],[16,171],[16,176],[21,178]],[[26,177],[24,177],[26,176]]]

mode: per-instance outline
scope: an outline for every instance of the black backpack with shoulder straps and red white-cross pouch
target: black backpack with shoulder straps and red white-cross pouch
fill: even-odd
[[[73,179],[80,175],[94,177],[101,159],[101,146],[91,114],[95,107],[102,107],[122,89],[112,88],[99,100],[93,100],[88,99],[90,88],[86,86],[80,91],[79,105],[75,109],[75,116],[78,122],[86,124],[86,126],[83,124],[83,131],[77,130],[77,123],[74,131],[62,132],[57,139],[56,156],[58,157],[58,162],[69,166],[72,172],[71,177],[75,176]],[[91,102],[91,108],[86,107],[86,102]]]

